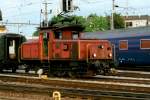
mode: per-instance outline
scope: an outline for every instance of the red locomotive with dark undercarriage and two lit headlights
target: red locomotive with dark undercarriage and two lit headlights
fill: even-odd
[[[113,62],[111,43],[81,40],[79,33],[79,26],[41,31],[39,39],[21,45],[21,61],[30,65],[28,69],[31,65],[39,66],[44,72],[57,76],[109,73]]]

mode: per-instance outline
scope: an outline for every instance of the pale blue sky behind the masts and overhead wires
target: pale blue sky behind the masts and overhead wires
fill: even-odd
[[[21,22],[39,24],[43,17],[40,17],[42,4],[44,0],[1,0],[0,9],[3,14],[3,22]],[[60,13],[60,0],[47,0],[48,10],[52,9],[49,14],[49,20],[52,16]],[[74,0],[74,5],[79,9],[72,14],[79,16],[88,16],[91,13],[97,15],[110,15],[112,9],[112,0]],[[122,15],[150,15],[150,0],[115,0],[116,13]],[[31,36],[38,26],[31,25],[8,25],[9,32],[21,33]]]

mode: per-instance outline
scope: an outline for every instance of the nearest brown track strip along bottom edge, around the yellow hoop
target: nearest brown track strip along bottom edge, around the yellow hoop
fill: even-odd
[[[4,88],[4,87],[3,87]],[[5,88],[10,88],[6,86]],[[3,93],[0,99],[4,100],[52,100],[53,90],[57,90],[61,93],[62,100],[148,100],[150,98],[149,94],[145,93],[132,93],[132,92],[118,92],[118,91],[100,91],[100,90],[87,90],[87,89],[71,89],[71,88],[59,88],[59,90],[54,87],[49,88],[36,88],[36,87],[13,87],[9,90],[9,95]],[[40,91],[37,91],[40,89]],[[21,90],[21,91],[20,91]],[[32,91],[31,91],[32,90]],[[7,91],[8,92],[8,91]],[[23,94],[21,94],[23,93]],[[10,95],[11,94],[11,95]],[[31,94],[31,95],[29,95]],[[12,97],[16,95],[16,97]],[[23,96],[22,96],[23,95]],[[24,98],[23,98],[24,97]]]

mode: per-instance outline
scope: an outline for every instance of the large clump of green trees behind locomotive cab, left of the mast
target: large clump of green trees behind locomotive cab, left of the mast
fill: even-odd
[[[106,17],[97,16],[96,14],[91,14],[87,18],[83,16],[54,16],[51,21],[49,21],[50,26],[60,26],[60,25],[70,25],[70,24],[81,24],[85,27],[84,31],[103,31],[108,30],[108,21]]]

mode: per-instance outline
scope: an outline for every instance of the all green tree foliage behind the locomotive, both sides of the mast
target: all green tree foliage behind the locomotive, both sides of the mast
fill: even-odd
[[[83,16],[54,16],[49,21],[49,26],[63,26],[80,24],[85,27],[84,31],[94,32],[94,31],[105,31],[110,29],[110,16],[103,17],[97,16],[96,14],[91,14],[87,18]],[[124,28],[124,18],[120,14],[114,14],[114,27],[115,29]],[[33,33],[33,36],[38,36],[38,31]]]

